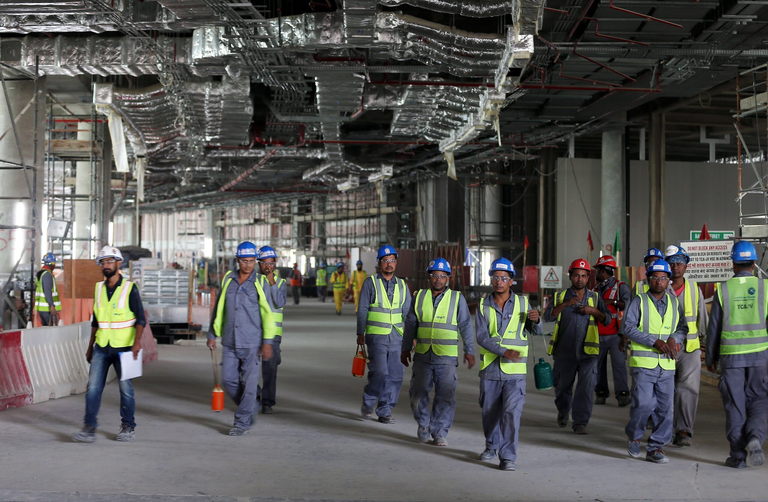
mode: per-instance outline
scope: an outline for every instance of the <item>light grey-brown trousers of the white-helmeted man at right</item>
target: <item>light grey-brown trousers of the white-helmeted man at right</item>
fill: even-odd
[[[674,431],[693,435],[701,384],[701,350],[685,352],[684,345],[680,348],[674,370]]]

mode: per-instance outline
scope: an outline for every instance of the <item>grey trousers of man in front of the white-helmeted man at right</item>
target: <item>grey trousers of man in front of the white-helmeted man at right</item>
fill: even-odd
[[[654,430],[650,432],[647,451],[664,449],[672,441],[674,407],[674,373],[660,366],[653,369],[631,368],[632,407],[629,423],[624,428],[627,438],[642,439],[648,417],[654,416]]]

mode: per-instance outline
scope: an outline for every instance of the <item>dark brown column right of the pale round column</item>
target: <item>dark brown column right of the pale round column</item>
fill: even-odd
[[[664,249],[664,114],[650,114],[648,135],[648,247]]]

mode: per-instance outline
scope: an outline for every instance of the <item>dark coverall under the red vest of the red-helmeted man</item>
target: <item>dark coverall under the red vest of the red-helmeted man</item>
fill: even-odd
[[[595,288],[598,295],[602,298],[607,289],[611,289],[616,284],[615,277],[609,277],[604,282],[598,284]],[[624,308],[629,305],[631,292],[626,283],[618,287],[617,300],[624,302]],[[611,353],[611,371],[614,375],[614,395],[619,392],[629,392],[627,385],[627,355],[621,352],[621,335],[600,335],[600,353],[598,354],[598,384],[594,387],[594,393],[598,396],[607,398],[611,395],[608,388],[608,353]]]

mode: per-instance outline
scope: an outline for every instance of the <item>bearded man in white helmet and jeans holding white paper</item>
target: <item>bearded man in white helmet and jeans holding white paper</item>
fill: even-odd
[[[107,381],[109,367],[121,376],[121,352],[133,352],[134,360],[141,350],[141,333],[147,325],[139,289],[124,279],[120,273],[123,255],[120,249],[104,246],[96,256],[104,281],[96,283],[94,309],[91,317],[91,340],[85,359],[91,363],[88,370],[88,388],[85,391],[85,418],[81,431],[74,434],[74,441],[96,441],[98,410],[101,394]],[[136,401],[131,379],[120,380],[120,432],[117,441],[134,441]]]

